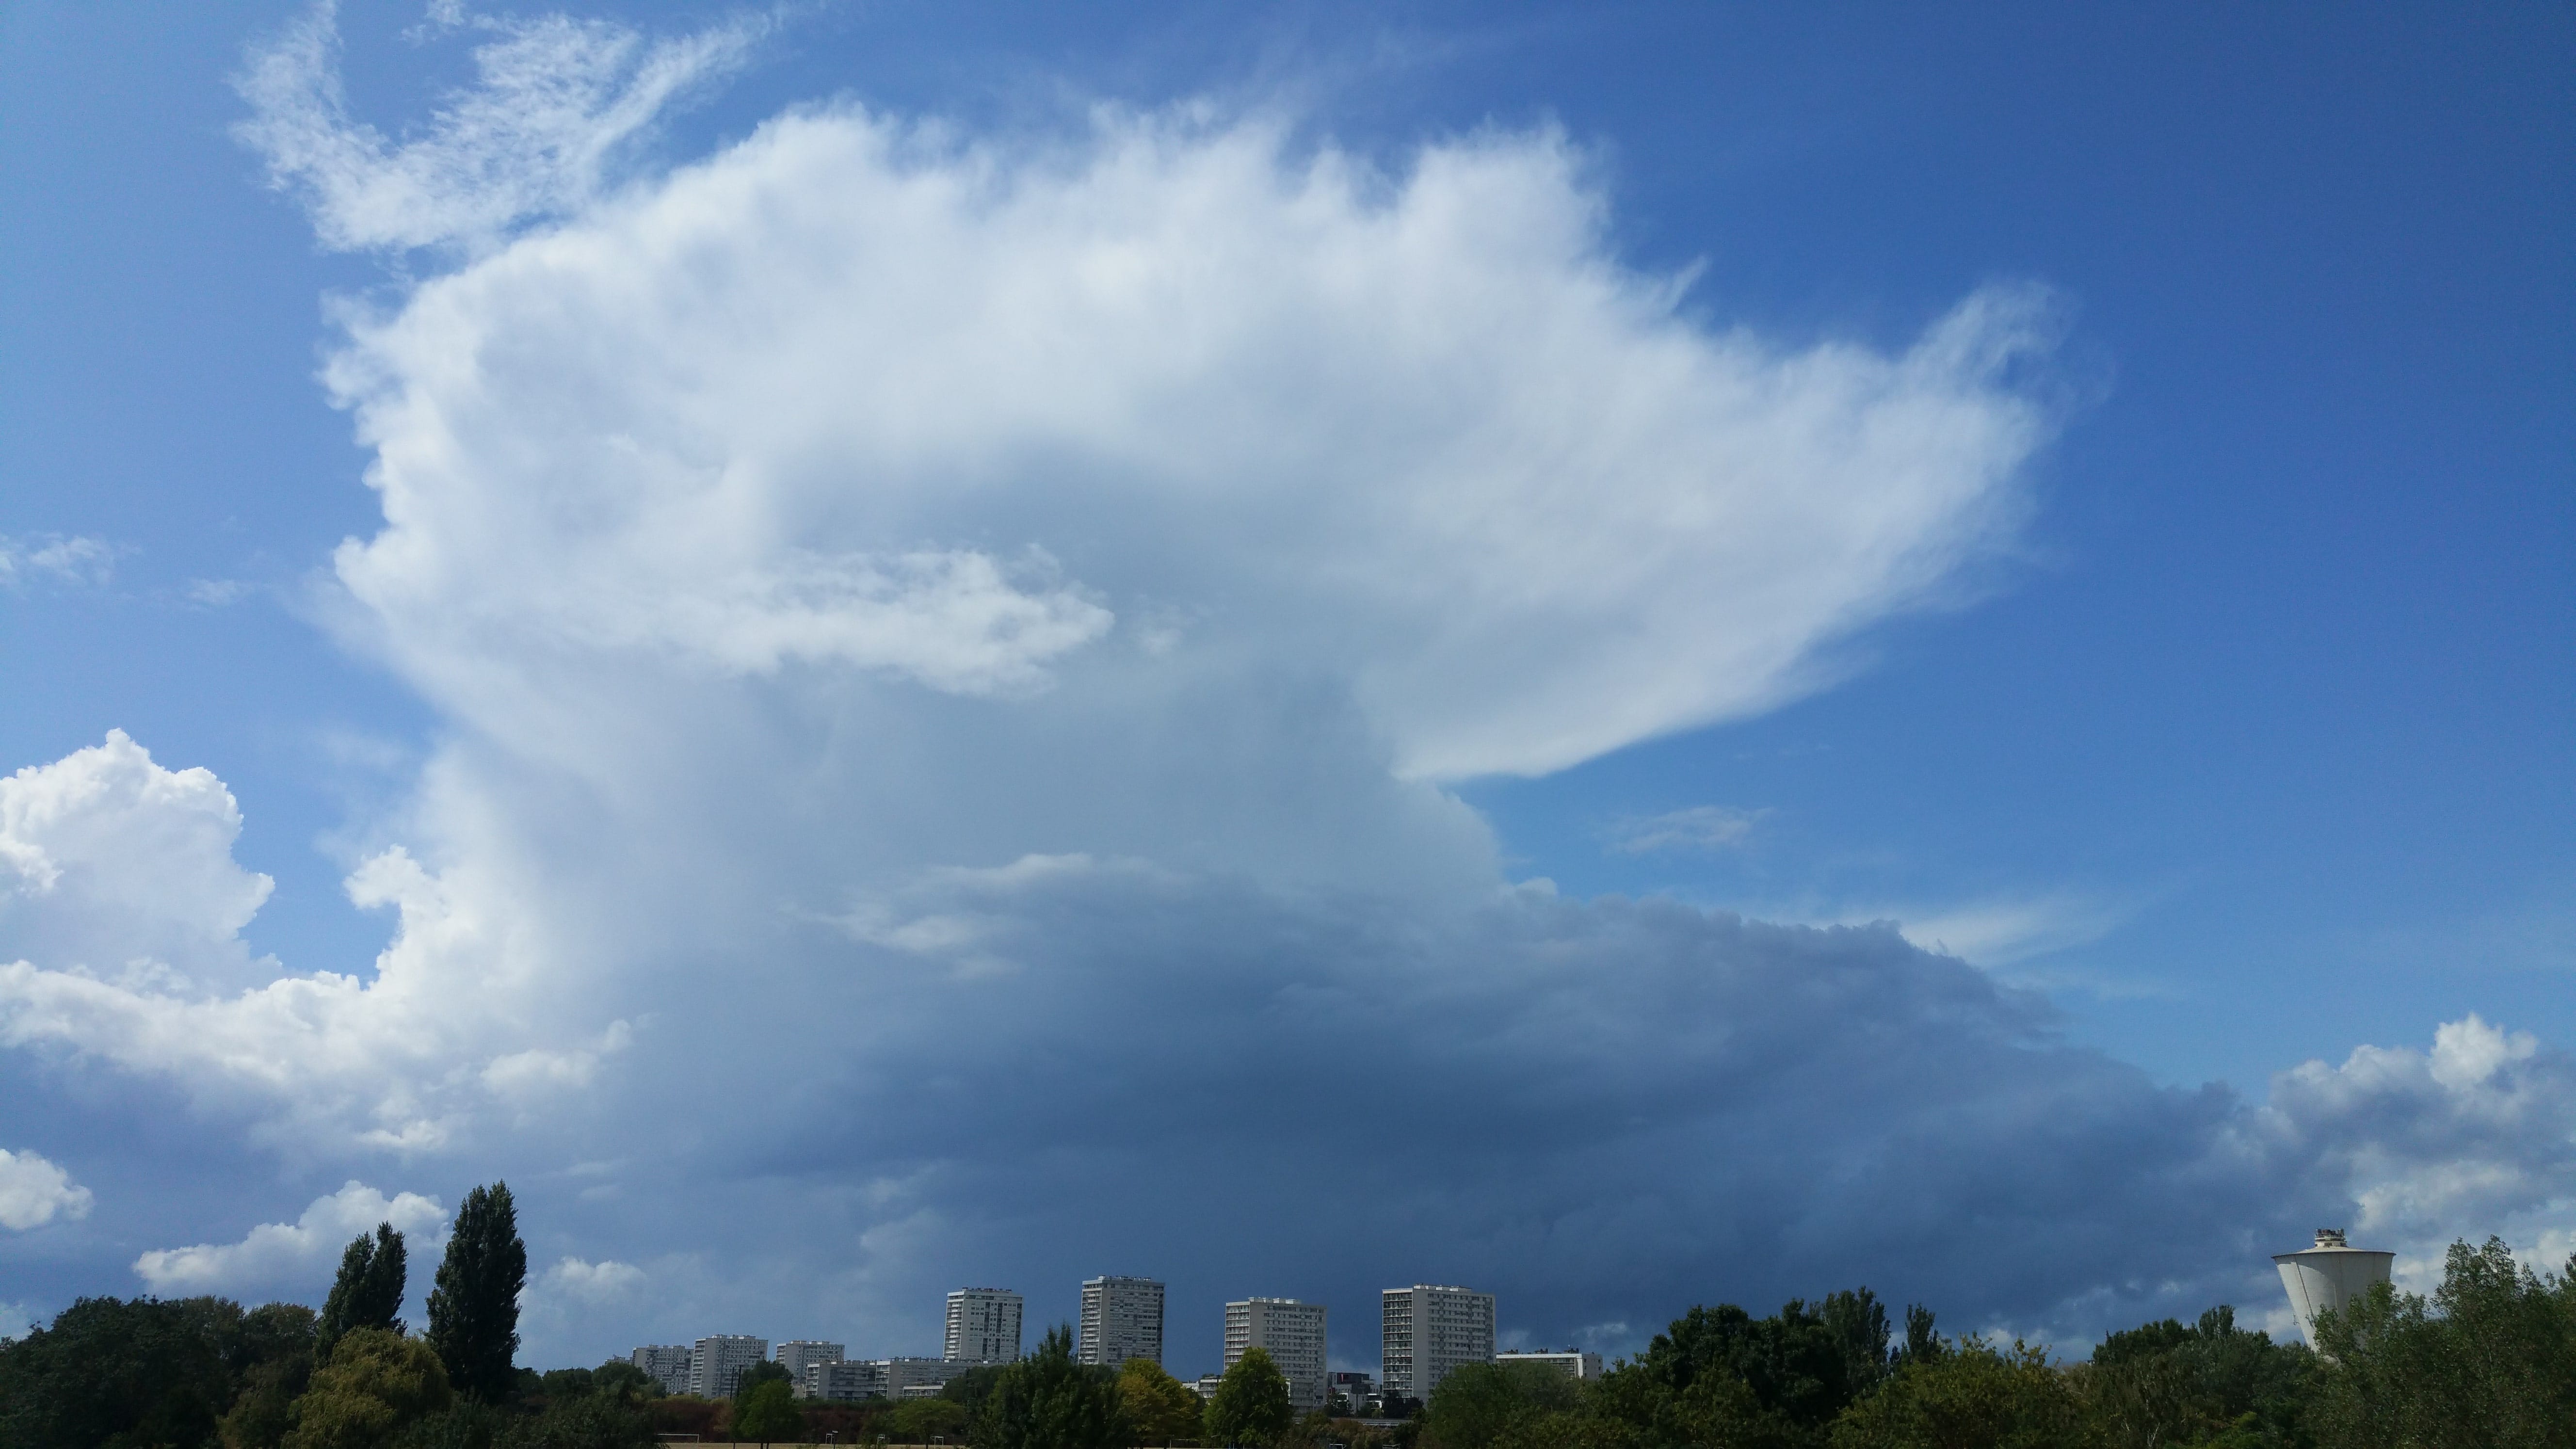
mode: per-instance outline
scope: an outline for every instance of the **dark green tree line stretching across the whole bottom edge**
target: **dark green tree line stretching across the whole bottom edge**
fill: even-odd
[[[402,1253],[389,1225],[350,1243],[319,1315],[82,1299],[0,1346],[0,1444],[644,1449],[696,1434],[976,1449],[2576,1449],[2576,1258],[2535,1274],[2494,1238],[2455,1243],[2432,1297],[2380,1284],[2321,1315],[2321,1351],[2213,1307],[2061,1361],[2045,1346],[1942,1336],[1924,1307],[1893,1325],[1870,1289],[1850,1289],[1767,1318],[1692,1307],[1589,1382],[1471,1364],[1399,1423],[1296,1415],[1260,1348],[1211,1400],[1151,1359],[1077,1364],[1064,1325],[1036,1354],[925,1400],[796,1400],[775,1361],[726,1400],[667,1397],[616,1359],[513,1366],[526,1248],[507,1186],[466,1196],[420,1338],[397,1318]]]

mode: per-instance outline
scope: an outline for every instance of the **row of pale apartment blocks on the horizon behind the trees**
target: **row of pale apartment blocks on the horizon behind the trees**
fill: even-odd
[[[938,1359],[850,1359],[840,1343],[793,1338],[778,1346],[778,1364],[796,1392],[817,1400],[927,1397],[966,1369],[1020,1359],[1020,1294],[1012,1289],[956,1289],[948,1294],[948,1333]],[[1334,1408],[1365,1413],[1386,1397],[1430,1397],[1461,1364],[1543,1361],[1571,1377],[1600,1374],[1600,1354],[1494,1351],[1494,1294],[1461,1287],[1414,1284],[1386,1289],[1378,1305],[1381,1377],[1327,1369],[1324,1305],[1293,1297],[1247,1297],[1226,1305],[1226,1356],[1231,1369],[1252,1348],[1270,1354],[1288,1379],[1288,1400],[1303,1413]],[[768,1338],[716,1333],[696,1343],[647,1346],[634,1364],[667,1392],[724,1397],[752,1364],[770,1356]],[[1118,1366],[1128,1359],[1162,1364],[1162,1284],[1100,1276],[1082,1284],[1082,1323],[1074,1359]],[[1198,1379],[1213,1395],[1221,1374]]]

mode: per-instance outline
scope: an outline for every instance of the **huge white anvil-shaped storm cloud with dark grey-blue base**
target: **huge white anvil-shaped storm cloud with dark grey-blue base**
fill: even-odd
[[[428,248],[327,369],[384,505],[335,629],[446,719],[348,882],[392,944],[252,959],[229,797],[111,737],[18,776],[62,804],[0,835],[0,1039],[299,1171],[507,1173],[549,1346],[922,1351],[940,1289],[1046,1318],[1095,1271],[1170,1279],[1175,1341],[1332,1302],[1352,1361],[1414,1279],[1613,1348],[1852,1279],[2089,1328],[2259,1292],[2347,1209],[2568,1191],[2566,1060],[2481,1021],[2169,1091],[1893,926],[1512,884],[1445,789],[1767,709],[1955,598],[2050,428],[2045,297],[1726,330],[1548,131],[1373,162],[837,103],[618,170],[742,34],[474,34],[399,139],[327,13],[245,80],[325,242]],[[80,905],[121,856],[64,841],[118,810],[211,882],[165,944]],[[309,1276],[376,1201],[137,1271]]]

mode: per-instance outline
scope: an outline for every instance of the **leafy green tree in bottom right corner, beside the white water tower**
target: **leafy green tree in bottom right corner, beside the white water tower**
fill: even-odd
[[[2378,1284],[2318,1315],[2316,1346],[2326,1449],[2576,1444],[2576,1258],[2543,1276],[2496,1238],[2452,1243],[2432,1302]]]

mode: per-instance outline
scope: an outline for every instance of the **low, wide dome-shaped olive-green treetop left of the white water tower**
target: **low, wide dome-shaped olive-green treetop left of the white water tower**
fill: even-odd
[[[1909,1361],[1834,1421],[1834,1449],[2089,1449],[2099,1444],[2045,1348],[1976,1338]]]

